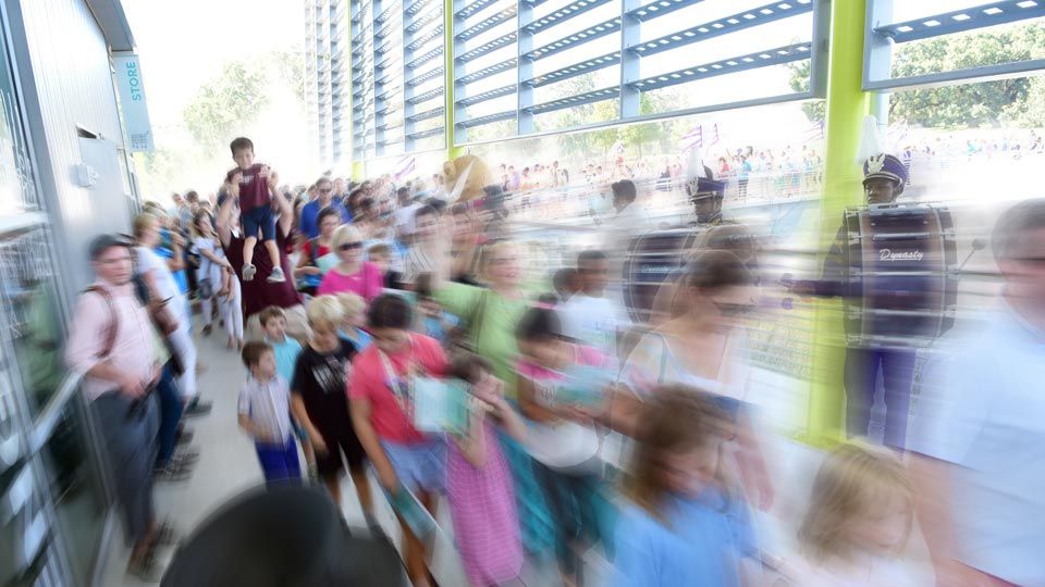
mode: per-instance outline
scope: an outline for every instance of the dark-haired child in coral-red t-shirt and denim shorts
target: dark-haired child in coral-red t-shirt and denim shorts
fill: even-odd
[[[410,491],[435,517],[437,494],[445,485],[446,445],[441,435],[414,426],[411,396],[419,376],[443,375],[447,364],[439,342],[410,333],[411,319],[409,304],[398,294],[370,302],[373,345],[353,363],[352,421],[390,498]],[[407,574],[414,585],[429,585],[422,537],[403,517],[399,525]]]

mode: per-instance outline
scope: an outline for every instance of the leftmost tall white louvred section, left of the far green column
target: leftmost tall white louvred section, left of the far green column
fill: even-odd
[[[305,102],[311,155],[324,167],[352,157],[348,0],[305,0]]]

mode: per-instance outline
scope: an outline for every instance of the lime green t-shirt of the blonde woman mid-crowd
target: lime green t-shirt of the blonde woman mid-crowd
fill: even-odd
[[[528,308],[526,300],[506,300],[489,289],[465,284],[446,284],[434,292],[434,298],[466,325],[469,317],[481,312],[477,316],[481,324],[468,325],[472,334],[478,333],[476,350],[504,382],[505,397],[515,399],[515,363],[519,357],[515,325]]]

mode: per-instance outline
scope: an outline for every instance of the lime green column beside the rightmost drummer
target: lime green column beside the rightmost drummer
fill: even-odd
[[[863,203],[862,170],[856,158],[863,118],[871,107],[871,95],[862,89],[866,0],[846,0],[831,5],[817,268],[823,266],[824,254],[841,226],[845,209]],[[828,446],[844,438],[845,432],[846,338],[840,299],[816,302],[814,333],[806,440]]]

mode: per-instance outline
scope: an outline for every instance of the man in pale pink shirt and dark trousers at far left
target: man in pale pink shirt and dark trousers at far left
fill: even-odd
[[[156,548],[172,538],[157,524],[152,500],[159,408],[151,390],[160,377],[162,346],[135,296],[132,245],[102,235],[91,241],[89,253],[97,279],[77,300],[65,361],[84,376],[81,389],[102,437],[133,545],[127,572],[156,582]]]

